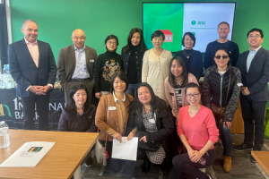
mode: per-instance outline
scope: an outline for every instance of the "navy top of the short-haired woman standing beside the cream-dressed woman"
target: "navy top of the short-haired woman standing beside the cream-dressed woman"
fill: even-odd
[[[185,50],[187,55],[192,53],[192,50]],[[180,50],[176,53],[176,56],[180,56],[186,65],[187,72],[195,75],[197,81],[199,81],[200,77],[203,75],[203,56],[200,51],[195,50],[195,52],[187,58],[186,55],[183,54],[183,50]]]

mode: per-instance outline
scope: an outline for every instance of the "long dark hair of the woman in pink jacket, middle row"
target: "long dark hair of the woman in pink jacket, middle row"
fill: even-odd
[[[181,73],[182,84],[181,85],[178,85],[178,83],[175,80],[174,74],[172,74],[171,72],[171,66],[174,60],[176,60],[177,63],[180,64],[180,66],[182,66],[182,73]],[[184,60],[180,56],[173,57],[169,63],[169,85],[172,88],[184,88],[187,85],[187,83],[188,83],[188,73],[187,73],[187,68],[186,68]]]

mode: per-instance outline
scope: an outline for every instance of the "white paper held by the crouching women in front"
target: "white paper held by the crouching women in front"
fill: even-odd
[[[112,157],[136,161],[138,138],[134,137],[131,141],[127,137],[122,137],[122,142],[113,139]]]

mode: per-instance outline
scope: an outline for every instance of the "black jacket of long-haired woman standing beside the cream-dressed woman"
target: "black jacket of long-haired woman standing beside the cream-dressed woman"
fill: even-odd
[[[126,52],[125,47],[121,50],[121,55],[123,57],[123,63],[124,63],[124,72],[126,72],[126,75],[128,73],[128,65],[129,65],[129,58],[131,55],[131,50],[128,49]],[[136,72],[137,72],[137,81],[140,83],[142,82],[142,64],[143,64],[143,53],[135,52],[135,59],[136,59]],[[134,68],[134,67],[133,67]]]

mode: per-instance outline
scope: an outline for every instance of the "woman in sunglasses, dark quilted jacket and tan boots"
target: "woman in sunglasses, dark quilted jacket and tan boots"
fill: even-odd
[[[215,65],[206,69],[203,84],[203,105],[211,108],[217,127],[221,132],[223,146],[223,169],[231,170],[231,135],[230,124],[238,108],[241,72],[229,65],[230,53],[225,48],[218,48],[214,56]],[[217,110],[216,110],[217,109]],[[218,110],[221,109],[221,113]]]

